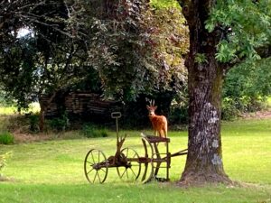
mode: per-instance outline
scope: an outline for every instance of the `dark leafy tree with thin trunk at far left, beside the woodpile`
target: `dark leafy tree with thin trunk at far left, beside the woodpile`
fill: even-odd
[[[88,71],[82,66],[86,44],[77,37],[77,24],[67,21],[73,6],[61,0],[1,2],[1,87],[19,108],[51,95],[40,103],[41,131],[44,112],[56,92],[83,79]],[[22,28],[30,33],[18,36]]]

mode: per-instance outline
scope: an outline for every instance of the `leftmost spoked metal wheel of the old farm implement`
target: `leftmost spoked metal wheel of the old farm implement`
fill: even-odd
[[[84,171],[90,183],[103,183],[107,179],[108,161],[104,152],[90,150],[84,161]]]

